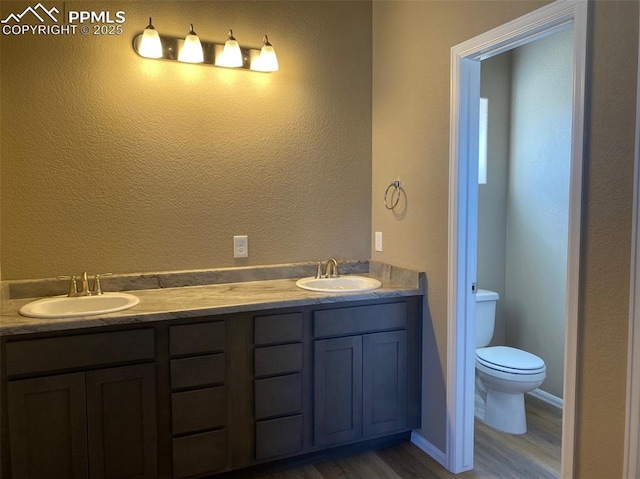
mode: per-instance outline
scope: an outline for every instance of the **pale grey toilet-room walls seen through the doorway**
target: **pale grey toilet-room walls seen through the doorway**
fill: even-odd
[[[567,28],[483,60],[480,81],[477,281],[499,295],[491,344],[542,358],[533,393],[560,408],[572,57]]]

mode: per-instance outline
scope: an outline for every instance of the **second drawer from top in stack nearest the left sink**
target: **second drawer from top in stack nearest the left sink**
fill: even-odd
[[[171,360],[171,387],[174,389],[224,383],[224,376],[224,354]]]

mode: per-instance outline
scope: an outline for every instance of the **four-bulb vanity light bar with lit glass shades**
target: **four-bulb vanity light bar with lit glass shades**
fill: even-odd
[[[201,40],[193,31],[193,24],[186,38],[160,35],[151,23],[133,39],[134,51],[145,58],[202,63],[225,68],[240,68],[258,72],[278,71],[278,57],[263,37],[262,49],[241,47],[229,30],[224,44]]]

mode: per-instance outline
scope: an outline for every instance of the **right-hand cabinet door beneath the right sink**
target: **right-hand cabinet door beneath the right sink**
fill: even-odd
[[[407,427],[407,332],[363,337],[363,435]]]

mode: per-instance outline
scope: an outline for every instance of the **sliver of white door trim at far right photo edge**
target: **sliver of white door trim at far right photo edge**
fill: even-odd
[[[640,477],[640,41],[636,103],[636,151],[631,239],[629,350],[627,354],[627,428],[624,444],[626,479]]]

